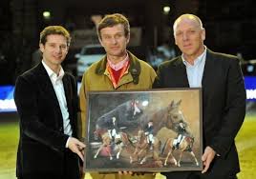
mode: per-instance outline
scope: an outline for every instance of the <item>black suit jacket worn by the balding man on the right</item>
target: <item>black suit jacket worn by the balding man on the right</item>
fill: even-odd
[[[245,85],[239,59],[206,50],[202,86],[203,146],[221,155],[215,157],[204,176],[237,173],[240,168],[234,138],[245,118]],[[153,88],[188,87],[181,56],[160,65]]]

